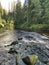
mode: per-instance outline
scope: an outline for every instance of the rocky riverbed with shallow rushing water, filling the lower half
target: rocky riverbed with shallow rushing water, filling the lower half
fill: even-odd
[[[49,36],[21,30],[0,34],[0,65],[28,65],[31,57],[38,57],[35,65],[49,65]]]

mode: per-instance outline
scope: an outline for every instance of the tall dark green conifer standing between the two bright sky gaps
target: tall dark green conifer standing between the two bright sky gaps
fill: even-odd
[[[21,25],[21,22],[23,20],[22,6],[20,0],[17,0],[15,15],[16,15],[16,19],[14,23],[14,28],[16,29],[16,26],[18,27],[19,25]]]

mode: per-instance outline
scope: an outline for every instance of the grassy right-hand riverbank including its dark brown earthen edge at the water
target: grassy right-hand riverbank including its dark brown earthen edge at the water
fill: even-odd
[[[44,35],[47,35],[49,36],[49,25],[48,24],[33,24],[32,25],[32,28],[31,26],[27,27],[27,26],[23,26],[20,25],[18,27],[16,27],[17,30],[24,30],[24,31],[28,31],[28,32],[37,32],[37,33],[40,33],[40,34],[44,34]]]

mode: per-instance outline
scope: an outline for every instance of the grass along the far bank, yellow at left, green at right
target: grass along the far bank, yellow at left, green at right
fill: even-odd
[[[6,30],[13,30],[14,29],[14,24],[10,23],[10,24],[6,24],[6,26],[4,26],[3,28],[0,29],[0,32],[4,31],[4,28]],[[33,23],[28,23],[28,22],[23,22],[23,23],[19,23],[18,25],[16,25],[16,28],[18,29],[23,29],[23,30],[27,30],[27,31],[36,31],[36,32],[40,32],[40,31],[46,31],[49,32],[49,24],[33,24]]]

